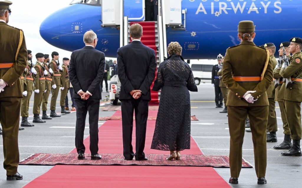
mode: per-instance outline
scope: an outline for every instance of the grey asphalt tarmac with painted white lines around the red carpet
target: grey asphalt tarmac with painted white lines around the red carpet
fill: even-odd
[[[104,84],[103,84],[104,85]],[[102,93],[102,97],[108,93]],[[34,96],[34,95],[33,95]],[[33,101],[33,96],[31,101]],[[69,96],[69,93],[68,93]],[[49,98],[50,100],[50,98]],[[58,97],[59,100],[59,97]],[[101,108],[110,105],[102,102]],[[48,103],[49,109],[50,103]],[[32,113],[33,102],[30,103],[29,113]],[[69,108],[71,100],[69,96]],[[229,155],[230,135],[226,113],[219,113],[223,108],[215,108],[214,88],[211,84],[198,85],[198,92],[191,92],[191,115],[196,115],[199,121],[191,122],[191,135],[198,143],[205,155]],[[48,114],[50,110],[47,111]],[[57,113],[60,112],[59,101]],[[42,113],[42,111],[41,111]],[[111,116],[114,112],[100,111],[100,116]],[[302,157],[284,157],[280,150],[274,150],[273,146],[283,141],[283,129],[278,103],[276,103],[278,120],[278,142],[267,143],[267,170],[265,185],[257,185],[257,177],[254,168],[242,169],[239,184],[233,187],[299,187],[302,185]],[[28,118],[32,122],[33,117]],[[21,119],[20,119],[21,122]],[[35,123],[34,127],[25,127],[19,132],[20,160],[34,153],[68,153],[75,148],[75,122],[76,113],[64,114],[62,117],[48,120],[47,123]],[[88,124],[88,118],[86,119]],[[104,121],[99,122],[101,126]],[[66,128],[67,127],[67,128]],[[69,128],[68,128],[69,127]],[[73,127],[73,128],[70,128]],[[89,129],[85,129],[84,139],[89,135]],[[2,137],[2,135],[0,135]],[[101,138],[100,138],[101,139]],[[121,151],[122,152],[122,151]],[[99,153],[102,153],[100,150]],[[168,155],[168,153],[167,153]],[[243,158],[254,166],[254,152],[251,133],[245,133],[243,143]],[[0,140],[0,162],[3,163],[3,141]],[[24,166],[20,165],[18,171],[24,176],[23,180],[7,181],[6,171],[0,167],[0,187],[19,188],[36,177],[47,172],[52,166]],[[229,168],[215,168],[218,174],[227,182],[230,178]]]

